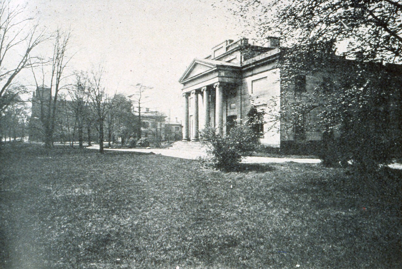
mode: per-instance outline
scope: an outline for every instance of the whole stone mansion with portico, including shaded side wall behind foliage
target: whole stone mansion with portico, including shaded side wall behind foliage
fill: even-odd
[[[282,117],[291,114],[286,111],[286,104],[293,102],[295,96],[301,96],[301,100],[310,105],[305,97],[313,97],[314,92],[321,92],[322,97],[318,98],[326,98],[336,88],[334,83],[341,85],[349,82],[340,76],[341,73],[337,74],[339,70],[300,70],[291,79],[290,91],[285,92],[287,86],[282,81],[285,74],[279,70],[280,57],[279,40],[270,37],[266,46],[249,44],[246,38],[226,40],[213,47],[207,57],[194,59],[179,80],[183,85],[185,108],[183,141],[197,141],[199,130],[205,126],[214,127],[218,133],[226,134],[235,122],[246,121],[250,109],[255,107],[265,112],[269,108],[269,113],[260,114],[258,128],[263,133],[260,136],[262,145],[280,148],[281,151],[298,148],[304,153],[314,151],[313,148],[319,149],[323,136],[319,124],[322,109],[317,105],[297,119],[295,124],[294,120]],[[340,56],[334,58],[346,68],[351,68],[356,62]],[[377,70],[386,70],[388,76],[395,80],[395,85],[400,85],[401,65],[373,62],[372,66]],[[377,109],[389,110],[387,122],[396,133],[402,133],[398,120],[402,115],[398,109],[400,86],[391,88],[385,86],[382,89],[390,97],[390,103],[383,103]],[[323,99],[312,100],[310,102],[313,107],[314,103],[325,105]],[[279,116],[281,110],[283,114]]]

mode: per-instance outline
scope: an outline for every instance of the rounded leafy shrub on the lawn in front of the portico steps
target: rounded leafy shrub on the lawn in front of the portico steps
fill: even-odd
[[[242,158],[258,146],[258,136],[248,125],[236,124],[226,136],[207,127],[201,131],[200,137],[208,147],[209,162],[225,171],[237,170]]]

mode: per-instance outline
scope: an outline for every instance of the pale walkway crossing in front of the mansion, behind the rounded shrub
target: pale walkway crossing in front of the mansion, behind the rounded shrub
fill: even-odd
[[[99,149],[99,145],[94,145],[88,147],[89,149]],[[140,148],[105,148],[105,150],[123,151],[123,152],[140,152],[148,154],[161,154],[163,156],[170,156],[182,159],[196,160],[199,157],[205,156],[205,154],[200,154],[199,152],[189,152],[183,150],[170,150],[165,148],[151,148],[151,149],[140,149]],[[244,163],[281,163],[281,162],[299,162],[299,163],[320,163],[320,159],[302,159],[302,158],[271,158],[271,157],[256,157],[248,156],[243,159]]]

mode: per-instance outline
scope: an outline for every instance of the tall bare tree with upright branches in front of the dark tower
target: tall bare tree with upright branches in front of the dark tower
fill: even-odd
[[[41,88],[41,90],[37,90],[37,99],[41,104],[41,122],[44,129],[45,134],[45,146],[52,147],[53,146],[53,132],[55,129],[55,118],[57,115],[57,98],[59,95],[59,91],[63,88],[66,88],[65,85],[62,85],[62,80],[67,78],[68,76],[64,75],[64,70],[70,62],[72,57],[68,57],[66,51],[68,49],[68,42],[70,39],[69,32],[62,32],[60,29],[57,29],[55,33],[54,45],[53,45],[53,56],[51,57],[51,73],[50,73],[50,87],[45,87],[45,72],[43,71],[42,66],[42,84],[37,81],[37,78],[34,74],[35,82],[37,85],[37,89]],[[69,75],[71,76],[71,75]]]

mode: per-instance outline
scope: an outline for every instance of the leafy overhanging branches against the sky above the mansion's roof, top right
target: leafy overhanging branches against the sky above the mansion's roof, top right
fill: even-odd
[[[348,56],[398,62],[402,3],[393,0],[244,0],[224,4],[259,41],[281,37],[284,47],[318,41],[349,43]]]

